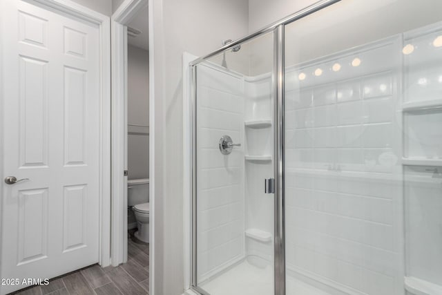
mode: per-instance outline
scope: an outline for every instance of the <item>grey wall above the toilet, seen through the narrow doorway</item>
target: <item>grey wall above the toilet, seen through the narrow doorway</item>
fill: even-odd
[[[149,177],[148,51],[128,46],[128,178]]]

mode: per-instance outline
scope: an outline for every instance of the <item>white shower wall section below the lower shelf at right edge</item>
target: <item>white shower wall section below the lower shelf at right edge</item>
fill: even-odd
[[[442,168],[405,167],[407,276],[442,285]]]

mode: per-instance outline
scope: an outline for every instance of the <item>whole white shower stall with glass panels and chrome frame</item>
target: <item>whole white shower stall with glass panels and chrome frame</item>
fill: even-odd
[[[442,294],[441,11],[320,1],[190,64],[196,292]]]

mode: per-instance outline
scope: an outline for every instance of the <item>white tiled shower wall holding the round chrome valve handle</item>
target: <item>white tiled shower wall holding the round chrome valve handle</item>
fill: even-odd
[[[244,153],[222,155],[218,142],[230,135],[244,143],[243,81],[219,68],[197,70],[198,281],[244,256]]]

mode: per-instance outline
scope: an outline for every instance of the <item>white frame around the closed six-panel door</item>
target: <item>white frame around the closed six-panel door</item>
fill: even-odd
[[[111,22],[109,17],[90,10],[70,0],[23,0],[37,6],[56,10],[60,14],[93,23],[99,28],[99,257],[102,267],[110,265],[111,258]],[[1,4],[0,4],[1,6]],[[2,23],[0,23],[1,29]],[[3,40],[0,38],[0,89],[3,89]],[[3,91],[0,91],[0,107],[3,106]],[[3,109],[2,107],[0,109]],[[0,157],[3,159],[3,120],[0,120]],[[3,167],[0,168],[1,186],[4,189]],[[3,198],[0,213],[3,212]],[[1,214],[0,214],[1,216]],[[1,224],[0,235],[6,225]],[[0,251],[4,251],[1,249]],[[73,269],[75,270],[75,269]]]

